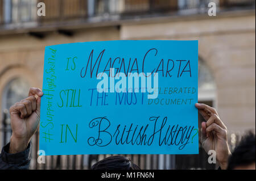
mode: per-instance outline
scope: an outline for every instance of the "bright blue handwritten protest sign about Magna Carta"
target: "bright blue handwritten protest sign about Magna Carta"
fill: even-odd
[[[197,41],[46,47],[40,150],[197,154],[197,63]]]

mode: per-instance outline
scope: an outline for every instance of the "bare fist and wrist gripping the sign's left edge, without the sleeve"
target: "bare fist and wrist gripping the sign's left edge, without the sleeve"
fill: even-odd
[[[43,92],[31,87],[26,99],[20,100],[10,107],[11,129],[9,153],[26,150],[31,137],[40,123],[40,103]]]

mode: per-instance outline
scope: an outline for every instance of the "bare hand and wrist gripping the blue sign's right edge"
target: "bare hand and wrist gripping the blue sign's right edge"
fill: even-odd
[[[231,155],[228,146],[228,129],[214,108],[198,103],[196,108],[206,121],[201,124],[201,144],[207,153],[209,150],[216,151],[217,162],[221,169],[225,170]]]

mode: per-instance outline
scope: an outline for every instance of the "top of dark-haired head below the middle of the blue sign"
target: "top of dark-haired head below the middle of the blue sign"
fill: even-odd
[[[141,170],[129,158],[117,155],[104,158],[92,166],[92,170]]]

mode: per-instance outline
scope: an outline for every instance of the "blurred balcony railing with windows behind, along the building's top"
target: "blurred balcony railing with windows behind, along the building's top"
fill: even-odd
[[[38,2],[45,3],[46,16],[37,15]],[[217,11],[255,10],[255,0],[0,0],[0,30],[206,14],[209,2]]]

